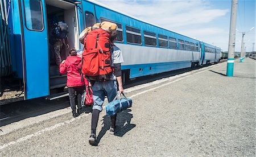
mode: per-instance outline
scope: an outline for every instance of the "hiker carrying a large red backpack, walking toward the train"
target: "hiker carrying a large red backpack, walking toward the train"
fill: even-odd
[[[94,144],[96,141],[96,128],[105,96],[111,102],[117,95],[117,88],[120,93],[123,92],[121,77],[122,52],[113,44],[117,38],[116,32],[111,34],[101,28],[102,23],[99,25],[100,28],[89,32],[85,36],[85,49],[82,53],[82,73],[90,80],[93,89],[94,102],[92,108],[92,130],[89,137],[90,144]],[[117,26],[115,26],[115,30],[116,28]],[[117,129],[115,125],[117,115],[110,118],[110,133],[114,134]]]

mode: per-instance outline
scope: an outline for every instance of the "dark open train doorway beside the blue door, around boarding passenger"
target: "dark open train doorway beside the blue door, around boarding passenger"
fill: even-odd
[[[79,49],[79,29],[77,27],[77,14],[75,4],[60,0],[46,0],[47,27],[48,27],[48,52],[49,52],[49,77],[50,94],[60,92],[66,86],[67,76],[60,75],[59,63],[56,61],[56,42],[61,43],[60,57],[65,60],[72,48]],[[65,39],[57,39],[54,29],[59,22],[67,23],[68,34]]]

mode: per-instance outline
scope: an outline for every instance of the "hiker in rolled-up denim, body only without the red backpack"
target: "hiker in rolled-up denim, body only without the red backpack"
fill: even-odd
[[[110,40],[115,42],[115,38],[117,36],[112,36]],[[121,71],[121,63],[123,63],[122,51],[112,44],[111,48],[111,60],[112,66],[114,68],[114,73],[109,78],[108,81],[94,81],[93,89],[93,111],[92,111],[92,126],[91,126],[91,135],[89,137],[89,143],[94,144],[96,141],[96,127],[98,124],[98,117],[100,111],[102,111],[102,104],[104,103],[105,96],[108,97],[108,102],[113,101],[114,97],[117,95],[117,89],[120,93],[123,92],[122,85],[122,71]],[[118,86],[117,86],[118,82]],[[114,134],[117,131],[117,126],[115,122],[117,120],[117,114],[110,117],[111,125],[110,125],[110,134]]]

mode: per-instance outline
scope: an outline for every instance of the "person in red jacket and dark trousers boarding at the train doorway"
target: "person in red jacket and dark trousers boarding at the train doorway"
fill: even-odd
[[[60,73],[67,72],[67,86],[69,93],[70,106],[72,108],[73,117],[81,114],[81,96],[84,92],[84,86],[89,85],[89,81],[80,75],[82,65],[81,57],[76,55],[76,49],[69,51],[69,56],[60,64]],[[76,111],[76,95],[77,94],[77,111]]]

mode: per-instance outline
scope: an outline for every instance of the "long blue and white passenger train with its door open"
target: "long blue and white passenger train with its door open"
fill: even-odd
[[[144,22],[97,1],[0,0],[1,86],[24,91],[24,100],[46,97],[66,86],[52,50],[52,21],[68,24],[69,48],[82,49],[79,34],[94,23],[116,23],[115,45],[122,50],[122,77],[127,81],[177,69],[217,63],[221,48]],[[5,36],[3,36],[5,34]],[[61,91],[61,90],[60,90]]]

